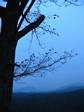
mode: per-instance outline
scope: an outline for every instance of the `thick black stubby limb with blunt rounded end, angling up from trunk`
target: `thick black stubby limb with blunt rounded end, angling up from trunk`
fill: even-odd
[[[45,19],[44,15],[41,15],[39,18],[36,19],[33,23],[30,23],[28,26],[26,26],[24,29],[19,31],[16,35],[17,39],[20,39],[21,37],[25,36],[28,32],[32,31],[33,29],[39,27],[39,25],[43,22]]]

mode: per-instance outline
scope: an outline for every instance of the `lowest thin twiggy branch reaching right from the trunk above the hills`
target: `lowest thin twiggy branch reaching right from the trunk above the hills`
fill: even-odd
[[[42,57],[36,57],[34,54],[29,59],[25,59],[19,65],[19,68],[15,70],[14,79],[22,78],[25,76],[37,76],[37,74],[45,73],[45,71],[51,72],[56,69],[56,65],[63,65],[69,59],[76,56],[77,53],[64,51],[64,54],[57,56],[57,52],[52,52],[53,49],[49,49]],[[54,58],[53,55],[56,57]],[[17,67],[17,66],[16,66]],[[18,72],[19,71],[19,72]]]

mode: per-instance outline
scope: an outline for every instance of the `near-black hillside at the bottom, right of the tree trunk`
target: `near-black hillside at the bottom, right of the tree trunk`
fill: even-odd
[[[14,93],[11,112],[84,112],[84,89],[61,93]]]

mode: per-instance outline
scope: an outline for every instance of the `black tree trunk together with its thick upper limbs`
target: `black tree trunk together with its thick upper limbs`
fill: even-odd
[[[33,22],[30,22],[26,17],[30,12],[30,9],[34,5],[35,0],[3,1],[7,2],[7,4],[6,7],[0,6],[0,112],[7,112],[12,96],[14,66],[16,65],[14,62],[15,49],[17,46],[17,42],[28,32],[39,27],[39,25],[45,19],[45,16],[40,14]],[[55,0],[50,1],[57,3]],[[40,4],[42,4],[43,2],[46,3],[47,1],[37,0],[37,3],[39,4],[37,7],[38,11]],[[74,2],[75,1],[73,0],[72,2],[68,1],[69,4],[73,4]],[[27,6],[28,3],[29,5]],[[27,21],[28,25],[20,30],[24,19]],[[47,32],[47,30],[45,31]],[[37,71],[39,69],[36,68]],[[33,72],[35,72],[36,70],[34,70]]]

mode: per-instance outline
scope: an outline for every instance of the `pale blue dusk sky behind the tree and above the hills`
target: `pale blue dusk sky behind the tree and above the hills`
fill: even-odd
[[[30,32],[18,41],[15,61],[25,59],[33,52],[36,55],[45,53],[50,48],[54,48],[59,55],[62,55],[64,51],[70,52],[71,50],[77,52],[78,55],[66,64],[57,67],[56,71],[46,72],[42,77],[28,76],[14,81],[13,92],[42,92],[58,90],[66,86],[84,86],[84,5],[68,7],[57,7],[50,3],[47,5],[47,7],[41,6],[41,13],[59,15],[55,20],[47,18],[45,21],[55,27],[60,36],[48,33],[40,35],[43,47],[41,48],[36,38],[33,38],[30,44]]]

